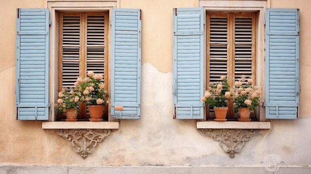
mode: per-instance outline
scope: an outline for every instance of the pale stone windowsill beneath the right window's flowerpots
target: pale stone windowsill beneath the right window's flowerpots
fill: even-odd
[[[197,121],[197,129],[270,129],[270,122]]]

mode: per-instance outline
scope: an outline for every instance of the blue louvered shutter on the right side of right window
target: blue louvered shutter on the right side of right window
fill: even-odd
[[[299,116],[299,9],[266,11],[266,118]]]

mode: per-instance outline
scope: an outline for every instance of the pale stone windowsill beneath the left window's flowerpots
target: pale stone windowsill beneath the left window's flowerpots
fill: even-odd
[[[49,122],[42,122],[42,129],[119,129],[119,122],[49,121]]]

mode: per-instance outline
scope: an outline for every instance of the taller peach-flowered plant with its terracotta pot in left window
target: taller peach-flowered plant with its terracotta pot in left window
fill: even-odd
[[[109,102],[103,78],[104,76],[101,74],[88,71],[86,78],[79,77],[75,82],[77,92],[81,95],[81,101],[86,102],[91,117],[90,121],[101,121],[104,106]]]

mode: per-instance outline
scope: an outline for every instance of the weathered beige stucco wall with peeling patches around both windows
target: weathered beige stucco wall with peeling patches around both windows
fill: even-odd
[[[196,129],[196,120],[172,119],[172,8],[196,7],[197,0],[120,0],[142,9],[142,116],[120,120],[119,129],[82,159],[55,130],[41,121],[15,120],[16,8],[47,7],[46,0],[1,1],[0,5],[0,165],[60,166],[260,166],[277,154],[285,165],[311,165],[310,0],[270,0],[271,7],[300,8],[301,118],[271,120],[231,159],[218,142]],[[268,1],[268,2],[270,2]]]

